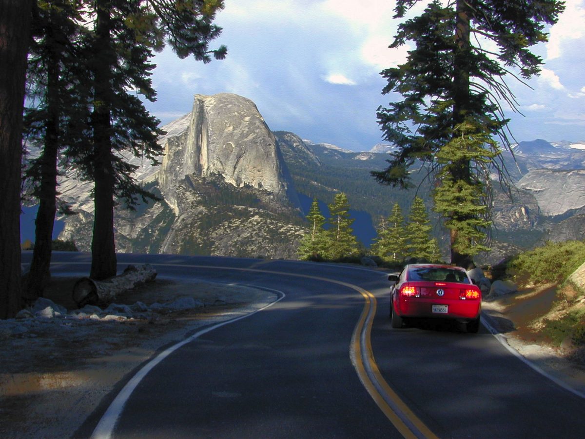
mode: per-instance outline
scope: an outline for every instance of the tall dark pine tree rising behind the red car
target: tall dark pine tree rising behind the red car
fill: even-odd
[[[403,18],[418,1],[398,0],[395,17]],[[399,47],[410,40],[416,47],[409,51],[406,63],[382,72],[387,79],[383,93],[402,96],[387,108],[378,108],[384,138],[398,150],[388,160],[386,170],[372,174],[380,183],[405,188],[410,185],[409,167],[415,162],[427,162],[430,173],[446,167],[451,188],[461,190],[460,201],[473,205],[477,199],[467,197],[470,193],[462,185],[480,188],[476,182],[488,181],[490,172],[506,178],[498,158],[500,147],[486,141],[481,145],[486,153],[476,150],[474,155],[451,157],[442,164],[437,163],[436,154],[460,134],[457,131],[462,124],[473,128],[473,132],[466,132],[468,136],[484,140],[495,136],[504,147],[510,146],[506,131],[509,119],[504,117],[503,107],[515,110],[517,102],[505,76],[530,78],[539,73],[542,59],[529,47],[547,40],[544,24],[555,23],[564,6],[556,0],[454,0],[443,4],[435,0],[420,16],[401,23],[390,46]],[[486,49],[488,44],[497,49]],[[482,163],[485,157],[490,157],[489,166]],[[488,189],[481,187],[484,193],[480,199],[489,197],[485,193]],[[439,210],[448,214],[442,207]],[[466,249],[473,248],[461,245],[471,235],[469,230],[462,231],[467,236],[459,238],[458,227],[476,227],[474,221],[484,217],[484,212],[478,216],[473,209],[465,210],[464,218],[447,218],[452,227],[451,259],[458,265],[471,262]],[[480,228],[483,225],[480,221]]]

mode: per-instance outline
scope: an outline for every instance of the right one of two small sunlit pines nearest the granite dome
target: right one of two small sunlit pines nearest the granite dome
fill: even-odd
[[[335,195],[329,204],[327,255],[330,259],[340,259],[357,254],[357,239],[353,235],[353,219],[349,217],[349,201],[344,193]]]

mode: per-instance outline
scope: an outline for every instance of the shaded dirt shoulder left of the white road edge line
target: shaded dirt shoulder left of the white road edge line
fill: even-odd
[[[74,310],[75,280],[53,279],[44,297]],[[250,287],[157,279],[127,291],[115,303],[151,305],[181,297],[194,297],[204,307],[114,321],[35,320],[26,323],[26,331],[10,336],[4,330],[0,437],[71,437],[116,383],[160,348],[204,325],[249,313],[276,299]]]

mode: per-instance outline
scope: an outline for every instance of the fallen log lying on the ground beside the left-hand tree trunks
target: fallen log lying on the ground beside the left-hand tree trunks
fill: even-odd
[[[94,280],[82,277],[73,286],[73,300],[78,307],[90,305],[106,305],[112,303],[116,296],[137,285],[153,282],[156,270],[150,264],[141,267],[129,265],[124,272],[106,280]]]

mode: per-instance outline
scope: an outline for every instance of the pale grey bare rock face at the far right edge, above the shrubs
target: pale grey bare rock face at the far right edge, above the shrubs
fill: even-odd
[[[585,170],[537,169],[522,177],[517,186],[531,192],[541,213],[549,217],[585,207]]]

